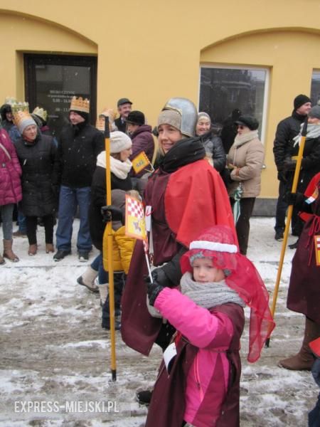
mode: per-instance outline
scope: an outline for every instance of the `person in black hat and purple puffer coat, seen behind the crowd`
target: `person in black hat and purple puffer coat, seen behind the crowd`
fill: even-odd
[[[152,137],[151,126],[146,125],[144,113],[141,111],[129,112],[126,122],[127,134],[132,139],[132,155],[130,156],[130,160],[144,151],[151,163],[154,155],[154,137]],[[145,172],[142,171],[134,176],[139,177],[144,173]]]

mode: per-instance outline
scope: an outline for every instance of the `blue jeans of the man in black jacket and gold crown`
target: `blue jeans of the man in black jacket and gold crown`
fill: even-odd
[[[73,218],[79,206],[80,226],[78,231],[78,251],[91,251],[92,241],[89,231],[90,187],[71,189],[60,187],[58,227],[56,231],[57,248],[59,251],[71,250],[73,235]]]

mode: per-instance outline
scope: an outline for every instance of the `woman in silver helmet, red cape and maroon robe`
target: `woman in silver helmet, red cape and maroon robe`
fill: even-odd
[[[164,157],[144,191],[145,204],[151,211],[149,255],[157,267],[152,278],[169,288],[180,282],[179,260],[203,228],[223,224],[235,233],[223,181],[204,159],[201,139],[194,136],[197,120],[198,112],[190,100],[174,97],[166,102],[158,118]],[[144,282],[147,274],[144,246],[137,241],[122,295],[121,332],[129,347],[145,355],[154,342],[165,349],[174,333],[169,323],[149,314]]]

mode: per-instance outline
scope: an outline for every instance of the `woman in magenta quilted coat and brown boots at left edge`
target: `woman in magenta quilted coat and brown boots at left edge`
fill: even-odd
[[[14,205],[21,200],[21,167],[16,149],[6,130],[0,130],[0,212],[4,233],[4,257],[0,255],[0,264],[4,258],[16,263],[19,260],[12,251],[12,214]]]

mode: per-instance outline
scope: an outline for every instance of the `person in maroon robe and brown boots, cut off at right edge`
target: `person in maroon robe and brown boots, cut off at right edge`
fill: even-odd
[[[279,367],[292,371],[310,370],[314,356],[309,342],[320,337],[320,172],[311,179],[304,194],[289,193],[294,205],[306,221],[292,259],[287,307],[305,317],[304,339],[297,354],[279,362]]]

